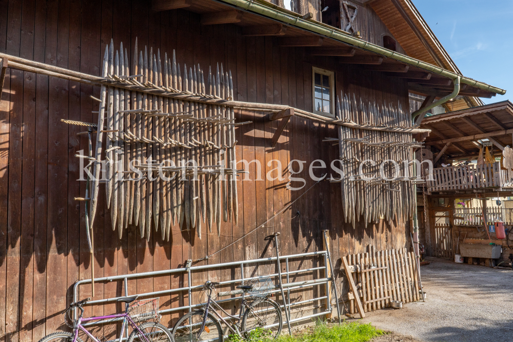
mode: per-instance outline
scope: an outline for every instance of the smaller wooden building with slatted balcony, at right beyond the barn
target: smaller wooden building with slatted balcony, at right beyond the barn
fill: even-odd
[[[502,247],[493,258],[479,253],[471,256],[465,251],[462,255],[469,264],[491,266],[499,264],[498,259],[507,261],[513,252],[509,239],[513,236],[498,238],[495,228],[489,226],[497,220],[509,229],[513,224],[509,199],[513,174],[508,164],[513,146],[513,105],[506,100],[433,115],[424,118],[421,127],[432,132],[422,151],[434,167],[433,179],[425,187],[426,205],[419,201],[419,212],[427,217],[425,225],[420,225],[426,255],[452,258],[460,254],[462,244],[473,248],[493,243]],[[483,151],[488,152],[488,158]],[[485,159],[481,163],[480,156]]]

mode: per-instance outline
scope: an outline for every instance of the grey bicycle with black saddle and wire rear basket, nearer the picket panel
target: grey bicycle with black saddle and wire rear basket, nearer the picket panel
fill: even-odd
[[[267,278],[265,282],[271,284],[270,277]],[[260,282],[262,283],[262,281]],[[220,283],[205,282],[203,289],[208,291],[207,303],[200,310],[189,312],[176,322],[171,333],[175,342],[223,342],[220,320],[229,331],[241,337],[244,335],[248,338],[249,333],[257,328],[272,330],[272,338],[276,338],[280,334],[283,325],[280,306],[266,297],[269,290],[274,288],[272,284],[259,288],[254,284],[237,286],[243,291],[239,316],[230,315],[215,300],[212,300],[212,292],[217,285]],[[251,300],[245,298],[248,292],[251,295]],[[216,309],[226,314],[228,319],[236,320],[236,323],[228,324]]]

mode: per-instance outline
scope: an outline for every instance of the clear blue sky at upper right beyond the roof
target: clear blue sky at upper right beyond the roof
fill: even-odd
[[[506,89],[513,100],[513,0],[413,0],[464,76]]]

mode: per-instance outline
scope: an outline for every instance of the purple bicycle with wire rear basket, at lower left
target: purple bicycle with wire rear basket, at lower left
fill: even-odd
[[[54,332],[46,335],[39,342],[82,342],[82,339],[78,337],[78,332],[83,331],[89,336],[93,342],[100,342],[99,338],[93,336],[87,329],[82,325],[83,322],[100,319],[112,319],[112,318],[123,318],[123,325],[121,326],[121,332],[119,339],[114,339],[107,342],[121,341],[125,328],[128,329],[128,324],[132,327],[132,332],[128,336],[127,342],[172,342],[171,333],[162,324],[155,321],[147,321],[141,323],[143,320],[148,320],[154,317],[159,317],[157,310],[159,308],[158,299],[145,299],[137,300],[137,296],[123,297],[117,299],[126,304],[124,313],[116,313],[107,316],[94,316],[84,318],[84,308],[82,308],[91,298],[77,301],[76,303],[70,304],[70,306],[64,312],[65,319],[69,318],[73,321],[73,333],[70,332]],[[80,310],[80,314],[77,319],[71,319],[71,312],[74,308]],[[137,323],[139,324],[137,324]],[[66,321],[66,324],[71,327]]]

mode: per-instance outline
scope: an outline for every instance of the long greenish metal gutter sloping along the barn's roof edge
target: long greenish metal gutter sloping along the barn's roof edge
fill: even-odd
[[[323,36],[333,38],[339,42],[342,42],[345,44],[350,44],[352,46],[383,55],[385,57],[399,61],[401,63],[405,63],[405,64],[408,64],[413,67],[421,68],[430,73],[434,73],[434,74],[437,74],[437,75],[440,75],[443,77],[455,79],[456,77],[460,76],[461,83],[468,84],[469,86],[472,86],[472,87],[490,91],[492,93],[496,93],[499,95],[504,95],[506,93],[506,91],[504,89],[500,89],[497,87],[487,85],[486,83],[482,83],[482,82],[476,81],[474,79],[459,75],[457,73],[445,70],[443,68],[436,67],[429,63],[419,61],[418,59],[411,58],[411,57],[405,56],[403,54],[400,54],[398,52],[382,48],[381,46],[362,41],[362,39],[358,39],[356,37],[350,36],[349,34],[347,34],[347,32],[344,32],[336,27],[332,27],[332,26],[329,26],[329,25],[326,25],[323,23],[319,23],[319,22],[307,21],[305,19],[302,19],[299,14],[282,9],[281,7],[278,7],[276,5],[263,4],[263,3],[258,3],[258,2],[254,2],[254,1],[249,1],[249,0],[215,0],[215,1],[225,3],[225,4],[230,4],[230,5],[245,9],[250,12],[261,14],[263,16],[275,19],[276,21],[282,22],[284,24],[288,24],[291,26],[295,26],[295,27],[307,30],[307,31],[321,34]]]

